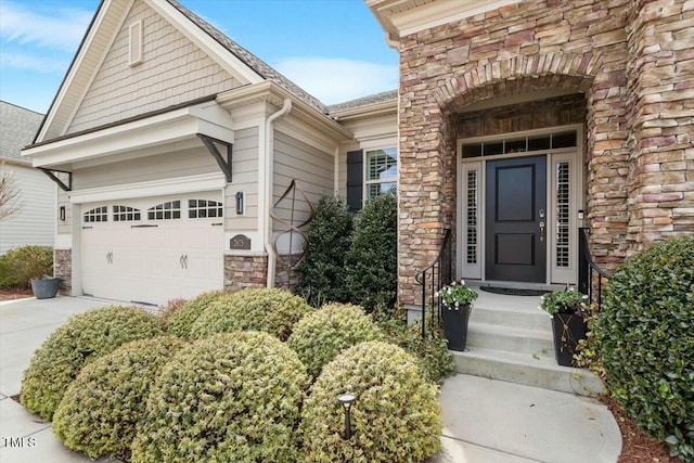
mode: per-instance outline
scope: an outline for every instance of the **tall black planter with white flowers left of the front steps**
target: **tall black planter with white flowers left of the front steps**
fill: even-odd
[[[477,293],[465,286],[463,280],[453,281],[434,294],[441,299],[444,333],[451,350],[465,350],[467,344],[467,321]]]

